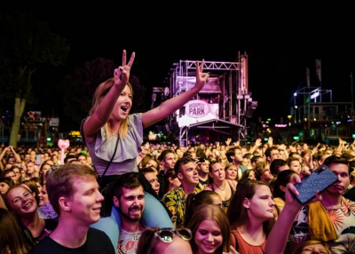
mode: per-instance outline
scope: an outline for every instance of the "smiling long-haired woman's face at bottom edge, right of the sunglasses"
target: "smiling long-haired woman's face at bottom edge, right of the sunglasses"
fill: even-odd
[[[223,243],[222,231],[216,220],[203,220],[194,234],[194,242],[199,253],[215,253]]]

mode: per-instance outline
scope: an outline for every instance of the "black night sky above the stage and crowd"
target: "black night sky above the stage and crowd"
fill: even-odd
[[[354,29],[344,12],[289,7],[276,12],[278,6],[275,14],[225,4],[140,7],[33,12],[67,38],[68,70],[97,57],[120,62],[126,49],[137,54],[132,74],[150,88],[162,86],[178,60],[235,61],[238,52],[247,52],[249,90],[259,101],[255,115],[280,118],[288,115],[293,93],[306,84],[305,67],[316,82],[314,60],[319,59],[323,88],[333,90],[334,100],[351,100]]]

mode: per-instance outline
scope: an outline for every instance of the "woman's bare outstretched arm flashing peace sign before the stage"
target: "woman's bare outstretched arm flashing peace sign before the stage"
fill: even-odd
[[[193,99],[193,96],[201,91],[203,85],[209,78],[208,73],[203,73],[204,62],[205,61],[202,60],[201,66],[199,61],[196,62],[196,83],[192,89],[185,91],[177,97],[166,100],[159,107],[155,107],[154,109],[143,113],[142,123],[144,128],[161,121],[168,115],[171,115],[173,112],[177,111],[177,109],[183,107],[187,101]]]

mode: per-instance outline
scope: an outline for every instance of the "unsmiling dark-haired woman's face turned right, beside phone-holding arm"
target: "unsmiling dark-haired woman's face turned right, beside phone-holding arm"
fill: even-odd
[[[257,185],[256,192],[252,198],[245,198],[243,202],[244,207],[248,210],[248,218],[264,222],[273,218],[272,193],[270,187],[264,185]]]

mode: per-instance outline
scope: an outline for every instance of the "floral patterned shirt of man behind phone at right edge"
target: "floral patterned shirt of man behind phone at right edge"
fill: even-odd
[[[342,197],[340,208],[327,211],[332,220],[338,239],[327,242],[332,253],[355,253],[355,202]],[[309,239],[308,207],[299,212],[291,229],[291,242],[303,243]]]

